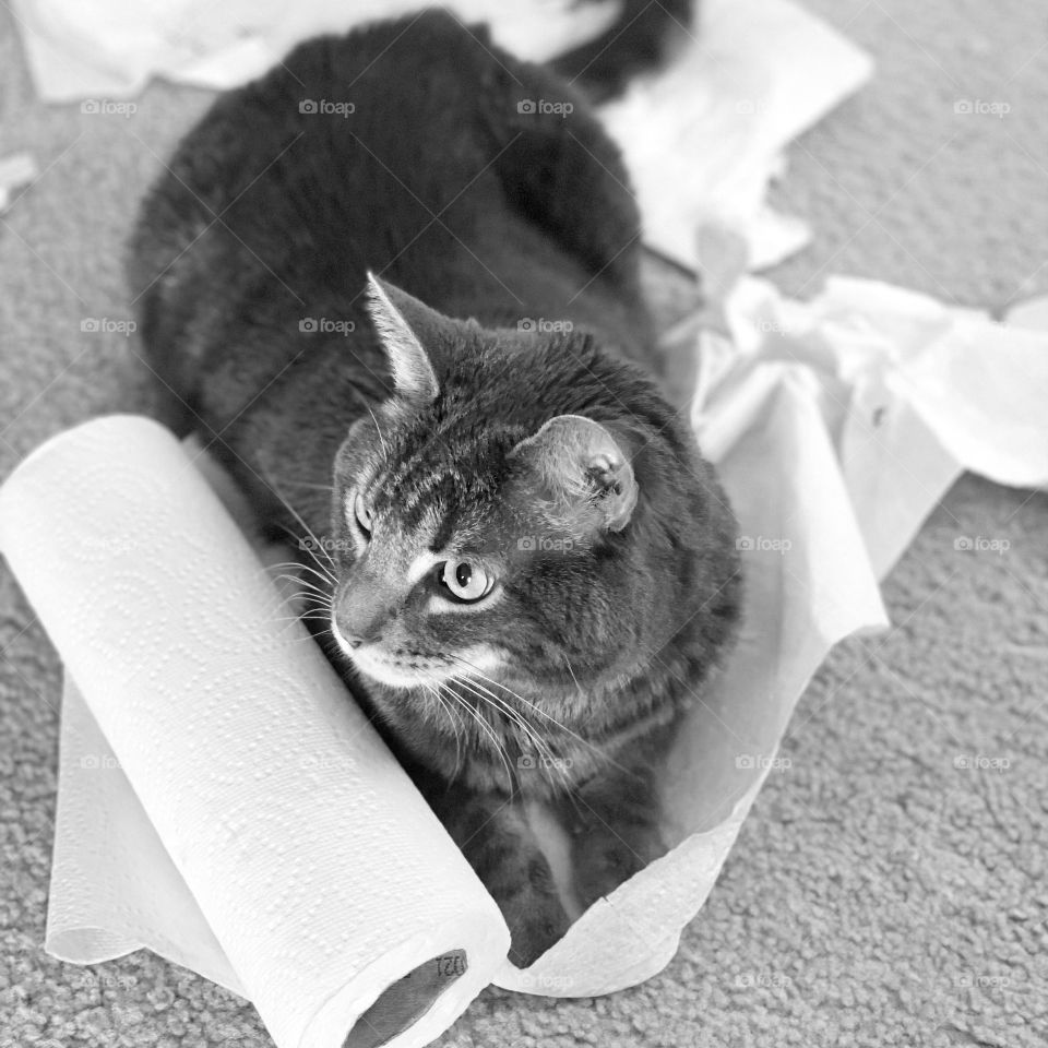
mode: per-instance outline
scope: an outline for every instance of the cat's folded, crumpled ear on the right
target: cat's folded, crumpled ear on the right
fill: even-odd
[[[539,497],[576,527],[620,532],[636,505],[636,477],[615,437],[581,415],[558,415],[511,452],[538,480]]]

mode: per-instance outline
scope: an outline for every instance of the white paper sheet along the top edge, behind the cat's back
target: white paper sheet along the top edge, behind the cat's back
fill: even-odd
[[[448,0],[487,22],[521,58],[545,61],[598,36],[616,3]],[[224,90],[276,64],[300,40],[413,14],[419,0],[12,0],[33,80],[46,102],[128,98],[152,76]]]

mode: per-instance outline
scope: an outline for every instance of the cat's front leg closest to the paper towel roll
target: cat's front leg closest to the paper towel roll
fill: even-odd
[[[505,794],[453,784],[430,803],[499,904],[510,928],[510,961],[528,966],[571,921],[521,802]]]

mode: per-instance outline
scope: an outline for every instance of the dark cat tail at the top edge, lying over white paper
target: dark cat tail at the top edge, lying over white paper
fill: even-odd
[[[693,33],[695,0],[620,2],[619,17],[600,36],[548,62],[591,102],[606,102],[622,94],[633,76],[659,66],[675,44]]]

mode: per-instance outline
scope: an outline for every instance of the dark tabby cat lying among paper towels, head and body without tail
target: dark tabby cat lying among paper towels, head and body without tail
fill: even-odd
[[[628,186],[581,90],[428,10],[219,96],[128,263],[168,421],[300,540],[318,641],[521,966],[570,925],[526,806],[582,906],[663,854],[654,775],[740,615]]]

